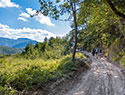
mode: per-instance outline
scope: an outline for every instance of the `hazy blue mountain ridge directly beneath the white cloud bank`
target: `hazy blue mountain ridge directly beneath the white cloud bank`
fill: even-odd
[[[0,37],[0,46],[11,48],[25,48],[26,45],[31,42],[33,45],[37,43],[37,41],[28,38],[9,39]]]

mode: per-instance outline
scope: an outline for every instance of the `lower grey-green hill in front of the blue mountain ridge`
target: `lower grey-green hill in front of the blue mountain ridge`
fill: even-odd
[[[0,46],[0,55],[11,55],[21,53],[23,49]]]

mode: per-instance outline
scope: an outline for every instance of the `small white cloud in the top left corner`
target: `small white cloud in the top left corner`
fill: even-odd
[[[0,7],[16,7],[19,8],[18,4],[15,4],[14,2],[11,2],[11,0],[0,0]]]

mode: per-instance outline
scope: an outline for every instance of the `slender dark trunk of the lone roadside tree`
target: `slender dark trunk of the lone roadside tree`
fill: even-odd
[[[72,61],[75,60],[76,48],[77,48],[77,22],[76,22],[76,10],[73,11],[74,24],[75,24],[75,45],[73,49]]]

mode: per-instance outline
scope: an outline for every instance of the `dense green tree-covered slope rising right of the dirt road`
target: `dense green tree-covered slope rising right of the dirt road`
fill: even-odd
[[[124,1],[114,1],[114,5],[125,14]],[[119,63],[121,59],[124,60],[125,19],[117,16],[105,0],[85,0],[81,3],[78,23],[78,27],[84,26],[79,31],[79,47],[89,51],[93,47],[103,48],[105,56],[110,59]],[[121,64],[124,64],[123,61]]]

